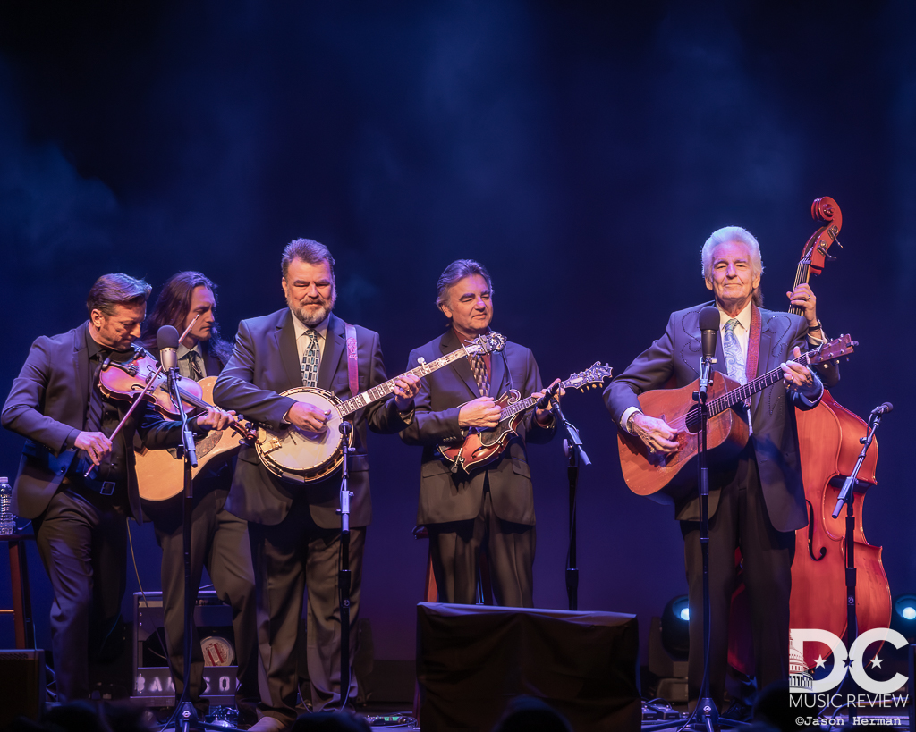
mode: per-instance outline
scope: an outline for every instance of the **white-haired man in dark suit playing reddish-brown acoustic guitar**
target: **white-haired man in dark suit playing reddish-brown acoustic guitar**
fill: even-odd
[[[767,371],[782,373],[781,381],[774,377],[777,382],[755,393],[748,406],[738,402],[735,407],[739,418],[749,422],[747,445],[739,452],[736,448],[736,457],[709,466],[710,695],[721,707],[736,548],[743,557],[758,688],[789,677],[794,532],[807,523],[794,407],[811,409],[823,394],[823,383],[813,371],[791,359],[801,355],[806,339],[820,342],[822,334],[808,285],[787,293],[793,305],[804,307],[805,318],[760,307],[763,264],[750,232],[736,226],[714,231],[703,245],[702,260],[705,285],[719,310],[714,369],[739,384]],[[660,339],[605,389],[605,404],[616,424],[648,447],[653,460],[671,459],[684,443],[664,419],[642,413],[638,395],[670,386],[672,379],[674,386],[685,387],[699,377],[699,313],[707,305],[672,313]],[[835,367],[818,368],[828,386],[839,380]],[[703,554],[695,481],[689,492],[674,498],[674,504],[684,537],[690,597],[689,694],[695,700],[703,680]]]

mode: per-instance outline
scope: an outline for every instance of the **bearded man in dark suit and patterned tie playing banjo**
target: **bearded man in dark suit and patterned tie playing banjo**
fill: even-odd
[[[340,688],[340,616],[337,572],[341,548],[341,472],[329,471],[339,458],[341,436],[333,402],[318,390],[339,399],[363,393],[385,382],[385,366],[378,334],[349,327],[332,314],[333,257],[325,246],[309,239],[290,242],[283,252],[282,285],[287,305],[263,318],[239,323],[233,356],[220,374],[213,399],[226,409],[274,431],[289,430],[294,447],[315,452],[322,462],[322,446],[329,454],[314,470],[300,476],[268,470],[255,447],[242,447],[229,511],[249,522],[259,602],[267,616],[267,638],[262,654],[267,663],[269,696],[262,693],[261,717],[252,729],[279,730],[296,718],[297,640],[302,593],[308,590],[308,669],[313,711],[339,708],[342,695],[350,705],[356,698],[356,679],[349,690]],[[348,332],[348,330],[350,332]],[[348,340],[352,342],[348,356]],[[358,379],[354,389],[351,384]],[[371,517],[366,426],[393,434],[412,418],[413,397],[420,380],[398,377],[394,395],[368,404],[354,414],[354,453],[349,462],[351,635],[350,662],[355,652],[359,619],[365,526]],[[282,395],[295,387],[311,390],[309,401]],[[322,401],[323,400],[323,401]],[[265,450],[267,451],[267,450]],[[336,456],[336,457],[335,457]],[[271,456],[272,458],[274,456]],[[317,479],[316,479],[317,476]],[[311,691],[311,694],[310,694]],[[349,694],[347,694],[349,691]]]

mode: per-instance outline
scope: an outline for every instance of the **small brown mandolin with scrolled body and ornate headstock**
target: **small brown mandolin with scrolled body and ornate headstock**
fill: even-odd
[[[603,383],[605,379],[610,379],[611,375],[610,366],[606,364],[602,366],[601,361],[595,361],[594,365],[585,371],[573,373],[565,382],[560,382],[559,387],[585,391]],[[474,469],[482,468],[496,460],[506,449],[509,440],[516,436],[516,429],[521,418],[538,404],[538,398],[529,396],[522,399],[518,390],[510,389],[496,400],[496,404],[499,404],[500,407],[499,423],[496,427],[489,429],[471,427],[461,445],[453,447],[441,445],[436,448],[445,462],[451,463],[453,473],[459,469],[465,473],[471,473]]]

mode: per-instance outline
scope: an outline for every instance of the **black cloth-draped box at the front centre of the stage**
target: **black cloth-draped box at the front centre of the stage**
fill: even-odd
[[[638,730],[636,616],[420,603],[417,681],[424,732],[489,732],[519,694],[576,732]]]

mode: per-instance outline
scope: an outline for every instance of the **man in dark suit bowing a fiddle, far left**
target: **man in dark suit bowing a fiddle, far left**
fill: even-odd
[[[89,697],[89,658],[120,617],[126,518],[142,520],[135,433],[150,448],[180,442],[180,423],[147,404],[114,435],[129,404],[99,388],[106,360],[136,357],[149,290],[126,274],[99,277],[86,303],[89,320],[35,340],[3,408],[3,425],[26,437],[13,510],[32,520],[54,591],[51,644],[61,702]],[[191,429],[221,429],[229,419],[209,409]]]

